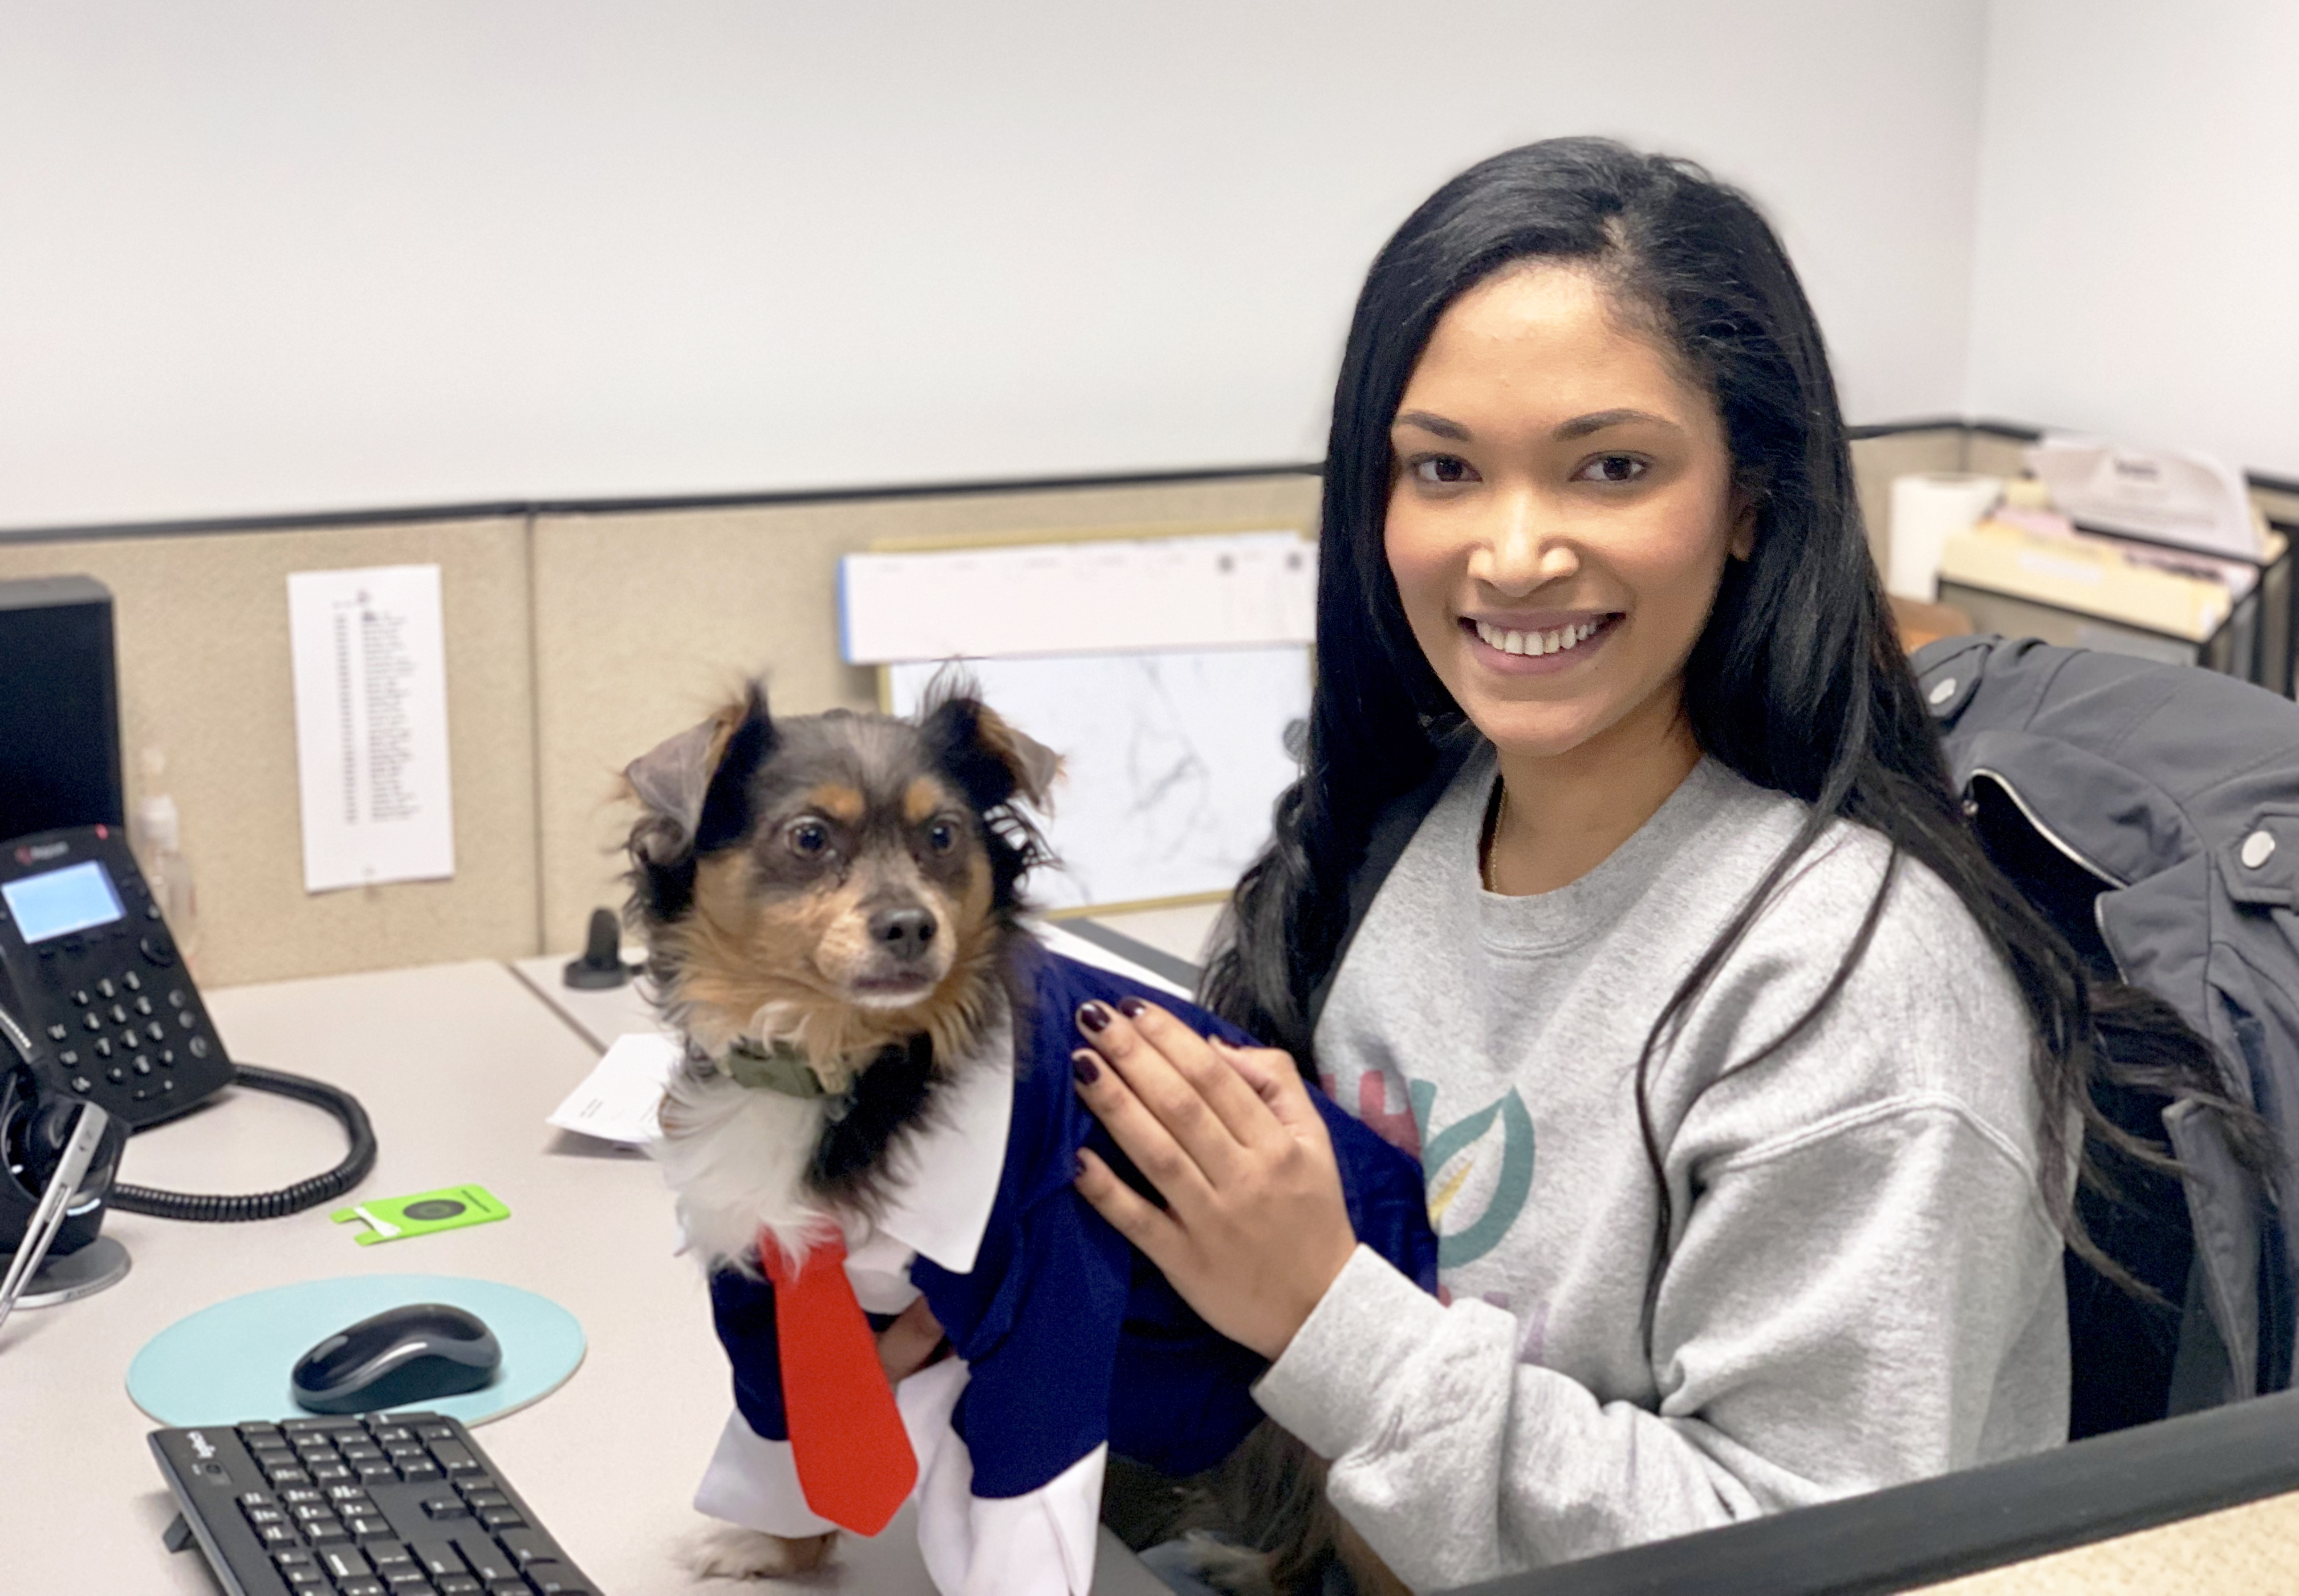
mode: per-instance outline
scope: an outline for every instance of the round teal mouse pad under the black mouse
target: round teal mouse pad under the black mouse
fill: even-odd
[[[485,1424],[543,1401],[582,1364],[582,1325],[549,1297],[458,1274],[345,1274],[248,1292],[177,1320],[129,1364],[129,1396],[179,1428],[292,1419],[303,1412],[287,1389],[297,1359],[338,1329],[407,1302],[476,1313],[503,1348],[492,1384],[407,1407]]]

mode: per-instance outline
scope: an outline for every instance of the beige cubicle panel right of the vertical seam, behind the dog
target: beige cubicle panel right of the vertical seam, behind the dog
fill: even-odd
[[[1310,527],[1317,478],[545,513],[533,527],[543,947],[582,945],[623,901],[618,773],[743,681],[786,713],[876,708],[876,672],[837,639],[837,561],[876,543],[1030,529],[1262,522]]]

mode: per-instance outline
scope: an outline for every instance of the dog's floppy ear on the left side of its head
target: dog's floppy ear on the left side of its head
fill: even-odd
[[[694,897],[694,855],[749,828],[749,777],[775,747],[775,722],[756,683],[710,720],[687,727],[623,768],[644,814],[630,830],[637,904],[676,920]]]

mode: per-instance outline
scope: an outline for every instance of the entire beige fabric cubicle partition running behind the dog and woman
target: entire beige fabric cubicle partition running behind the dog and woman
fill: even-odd
[[[1901,471],[2019,469],[2021,439],[1954,421],[1853,444],[1883,550]],[[2299,515],[2299,494],[2262,494]],[[2276,508],[2281,506],[2281,508]],[[1048,527],[1310,527],[1310,471],[699,508],[506,511],[106,536],[0,534],[0,577],[87,573],[120,605],[122,752],[184,814],[200,975],[285,980],[570,950],[616,904],[616,773],[743,676],[802,713],[874,704],[839,662],[837,559],[881,538]],[[303,892],[287,573],[437,563],[444,575],[455,876]]]

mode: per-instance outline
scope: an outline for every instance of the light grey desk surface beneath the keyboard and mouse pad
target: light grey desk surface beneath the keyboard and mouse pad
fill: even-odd
[[[129,1359],[223,1297],[407,1269],[524,1286],[582,1320],[591,1350],[575,1378],[487,1424],[480,1442],[605,1591],[738,1589],[699,1585],[671,1562],[681,1532],[701,1522],[687,1499],[729,1389],[703,1281],[671,1256],[669,1196],[644,1157],[543,1125],[593,1046],[499,964],[221,989],[209,1010],[234,1058],[359,1095],[382,1145],[361,1191],[478,1180],[513,1217],[356,1246],[324,1207],[239,1226],[110,1214],[106,1235],[136,1260],[129,1276],[0,1329],[0,1596],[214,1596],[198,1552],[161,1548],[175,1504],[145,1447],[154,1424],[126,1396]],[[326,1115],[234,1090],[138,1136],[122,1168],[152,1187],[255,1191],[326,1168],[340,1145]],[[839,1575],[809,1589],[931,1596],[908,1511],[876,1541],[848,1539]],[[1163,1587],[1104,1534],[1097,1591]]]

